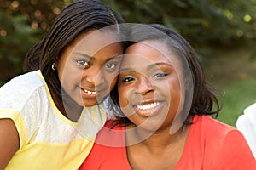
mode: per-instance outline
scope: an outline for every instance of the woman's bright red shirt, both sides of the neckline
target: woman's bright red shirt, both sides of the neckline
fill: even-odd
[[[109,129],[112,122],[107,122],[106,128],[98,133],[81,170],[131,170],[126,156],[125,127]],[[255,170],[256,160],[243,135],[234,127],[210,116],[195,116],[183,155],[174,169]]]

